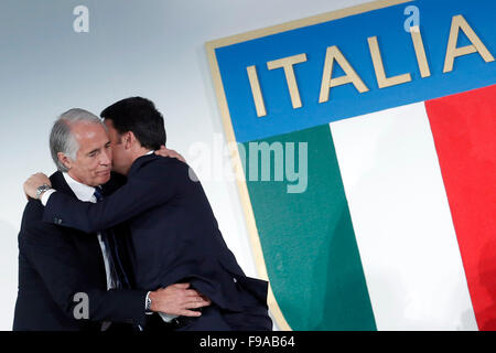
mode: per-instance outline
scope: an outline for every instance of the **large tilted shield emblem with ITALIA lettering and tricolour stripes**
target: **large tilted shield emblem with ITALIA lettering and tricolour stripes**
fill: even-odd
[[[494,13],[386,0],[207,43],[281,329],[496,330]]]

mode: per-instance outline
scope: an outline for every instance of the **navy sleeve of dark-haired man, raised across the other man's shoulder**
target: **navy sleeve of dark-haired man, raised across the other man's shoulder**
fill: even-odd
[[[187,176],[186,176],[187,178]],[[161,179],[136,175],[98,203],[82,202],[54,192],[46,203],[43,221],[94,233],[112,227],[171,200],[176,191],[177,172]]]

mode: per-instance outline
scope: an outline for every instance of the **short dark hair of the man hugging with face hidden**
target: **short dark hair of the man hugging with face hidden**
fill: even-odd
[[[158,150],[165,145],[162,114],[149,99],[131,97],[119,100],[105,108],[100,116],[111,120],[119,133],[132,131],[144,148]]]

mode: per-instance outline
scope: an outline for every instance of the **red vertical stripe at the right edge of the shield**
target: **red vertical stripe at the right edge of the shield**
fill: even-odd
[[[496,85],[425,108],[475,318],[496,330]]]

